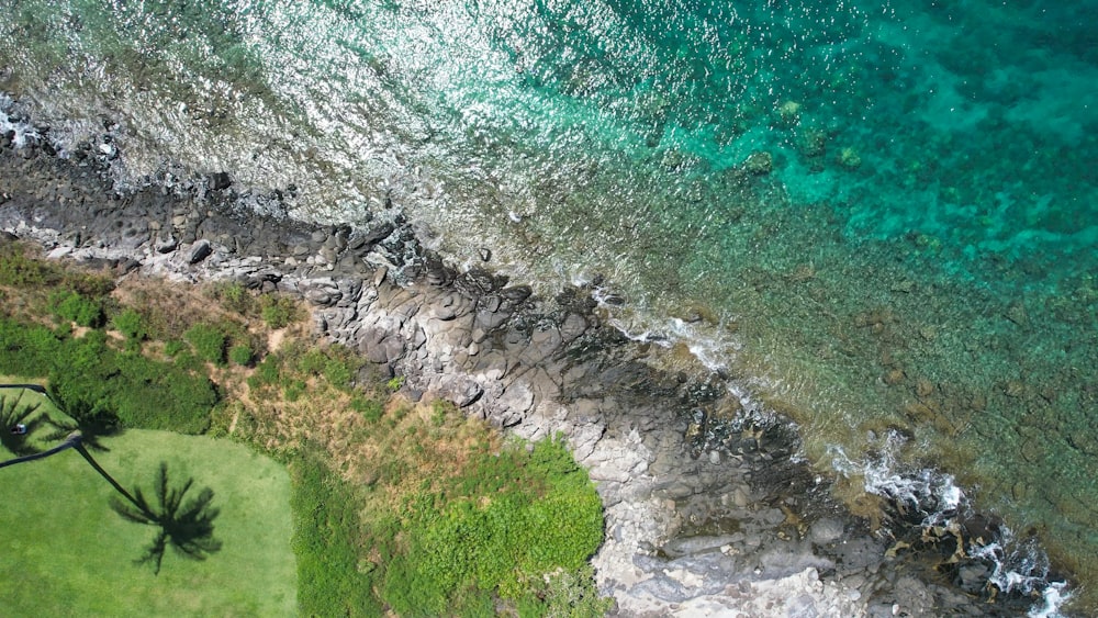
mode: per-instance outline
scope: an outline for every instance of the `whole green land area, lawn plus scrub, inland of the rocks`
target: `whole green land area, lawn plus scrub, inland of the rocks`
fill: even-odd
[[[602,505],[562,442],[504,440],[447,402],[404,400],[400,379],[317,341],[287,299],[115,285],[2,244],[0,300],[0,374],[46,384],[124,486],[152,486],[167,461],[212,488],[222,543],[201,562],[168,552],[154,575],[132,562],[155,527],[112,512],[76,452],[5,469],[4,488],[33,496],[0,510],[20,530],[0,543],[16,614],[85,597],[81,613],[111,615],[606,609],[587,564]]]

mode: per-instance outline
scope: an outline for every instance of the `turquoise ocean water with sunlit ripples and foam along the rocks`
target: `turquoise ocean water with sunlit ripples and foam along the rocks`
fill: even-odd
[[[840,485],[959,487],[1013,531],[1002,586],[1038,539],[1098,607],[1098,2],[0,7],[8,111],[109,133],[120,190],[225,170],[602,276]]]

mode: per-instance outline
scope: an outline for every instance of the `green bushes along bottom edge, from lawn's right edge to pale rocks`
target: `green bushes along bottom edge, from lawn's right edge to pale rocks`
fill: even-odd
[[[304,449],[291,464],[298,600],[306,616],[602,616],[587,559],[602,504],[561,441],[480,458],[447,491],[393,513],[362,501]],[[380,599],[374,596],[380,594]]]

